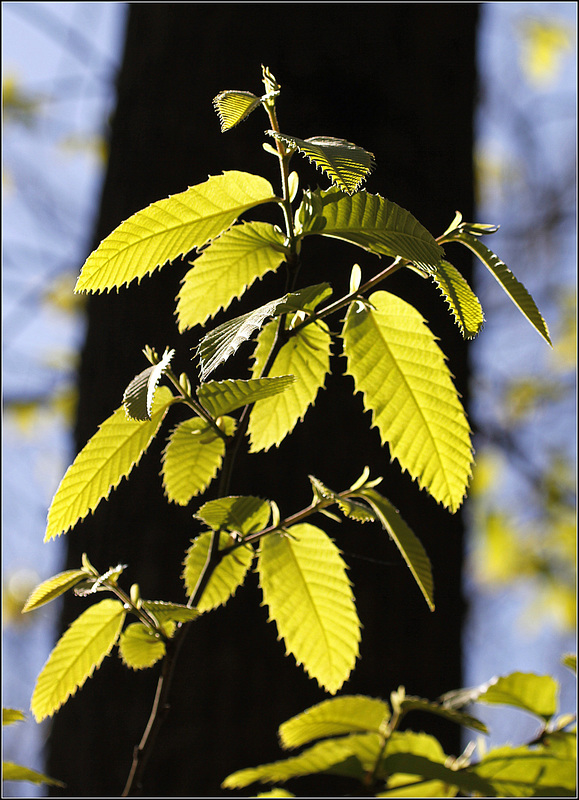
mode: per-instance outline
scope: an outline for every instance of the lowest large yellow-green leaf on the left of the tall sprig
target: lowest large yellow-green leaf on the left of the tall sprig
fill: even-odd
[[[125,609],[118,600],[102,600],[76,619],[50,654],[38,676],[31,708],[36,721],[50,717],[90,678],[117,641]]]

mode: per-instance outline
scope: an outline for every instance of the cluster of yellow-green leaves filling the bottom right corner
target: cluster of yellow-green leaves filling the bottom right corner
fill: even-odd
[[[572,659],[569,666],[573,666]],[[356,781],[376,797],[571,797],[575,791],[576,733],[565,730],[574,718],[556,716],[557,684],[549,676],[515,672],[473,689],[449,692],[436,702],[392,692],[390,704],[362,695],[332,698],[284,722],[279,741],[285,750],[309,745],[299,755],[243,769],[223,782],[227,789],[253,783],[283,783],[316,773]],[[475,743],[458,758],[448,756],[426,733],[400,730],[412,711],[443,716],[488,733],[480,720],[462,711],[472,703],[501,704],[533,715],[539,731],[530,745],[484,751],[473,761]],[[315,742],[315,744],[312,744]],[[354,784],[353,784],[354,785]],[[276,787],[258,797],[293,797]]]

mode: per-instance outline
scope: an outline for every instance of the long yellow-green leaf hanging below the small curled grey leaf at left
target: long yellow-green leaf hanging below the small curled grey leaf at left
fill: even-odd
[[[161,386],[149,422],[127,419],[121,406],[102,423],[68,468],[54,495],[45,542],[84,519],[127,477],[155,437],[172,399],[171,391]]]

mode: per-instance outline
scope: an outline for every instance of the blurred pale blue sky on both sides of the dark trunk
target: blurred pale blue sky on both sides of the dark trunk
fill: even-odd
[[[22,88],[40,101],[34,126],[7,126],[4,135],[5,399],[34,399],[47,390],[65,393],[73,384],[82,316],[59,311],[46,301],[45,294],[59,276],[64,276],[65,286],[72,290],[88,250],[103,176],[95,136],[114,107],[111,82],[121,55],[125,13],[126,4],[122,3],[2,5],[4,78],[14,75]],[[565,103],[568,106],[570,97],[576,98],[576,44],[563,53],[560,71],[550,84],[537,87],[529,83],[521,68],[521,50],[514,46],[523,16],[556,17],[576,30],[575,3],[483,4],[479,63],[488,106],[479,115],[478,149],[488,158],[499,159],[503,168],[516,166],[520,158],[513,150],[518,141],[516,121],[535,119],[536,163],[557,175],[570,137],[573,153],[575,149],[575,107],[571,115],[560,109]],[[516,102],[510,113],[505,113],[504,105],[500,111],[501,92],[510,92]],[[546,272],[540,263],[533,264],[526,257],[524,263],[518,263],[517,243],[508,235],[509,224],[516,225],[517,215],[532,213],[532,208],[513,208],[499,183],[491,182],[479,211],[480,221],[501,223],[501,232],[490,246],[511,266],[549,319],[547,310],[556,311],[549,305],[553,271],[568,291],[576,291],[574,224],[569,234],[555,242],[556,257]],[[473,358],[482,372],[489,371],[491,385],[495,385],[521,364],[544,369],[547,355],[522,318],[512,321],[512,306],[491,282],[481,276],[477,285],[488,321],[480,342],[473,347]],[[505,336],[507,318],[509,334]],[[483,418],[489,414],[489,404],[484,407],[485,396],[481,398],[476,413]],[[574,397],[568,406],[558,419],[539,420],[541,424],[530,434],[538,458],[543,452],[542,438],[554,436],[574,458]],[[492,413],[491,408],[491,417]],[[60,569],[61,544],[44,545],[42,538],[46,509],[74,454],[62,418],[47,411],[36,413],[31,420],[25,429],[22,420],[16,425],[7,418],[3,431],[5,592],[7,587],[16,592],[18,581],[25,589],[31,588]],[[514,477],[512,480],[516,483]],[[509,483],[509,491],[515,491],[513,486]],[[520,491],[524,504],[524,487]],[[465,682],[472,685],[514,669],[556,673],[564,682],[564,702],[574,707],[574,682],[558,667],[561,653],[575,650],[574,641],[554,637],[552,626],[544,626],[539,636],[521,631],[520,607],[528,589],[491,596],[472,581],[467,581],[467,589],[476,602],[466,633],[474,657],[466,664]],[[47,623],[56,611],[55,604],[45,606],[33,619],[6,626],[3,705],[28,710],[34,681],[53,643]],[[495,719],[494,713],[488,715],[491,726]],[[509,715],[503,716],[500,726],[503,737],[520,734],[520,715],[513,721]],[[32,722],[9,729],[5,757],[42,769],[43,730]],[[10,791],[10,796],[32,796],[29,785],[13,785]]]

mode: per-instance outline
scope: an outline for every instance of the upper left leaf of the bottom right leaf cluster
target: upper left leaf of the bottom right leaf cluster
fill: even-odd
[[[324,700],[280,725],[285,748],[300,747],[316,739],[347,733],[380,733],[390,719],[384,700],[363,695],[344,695]]]

